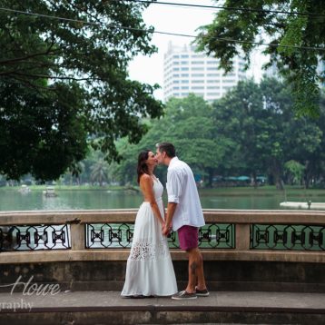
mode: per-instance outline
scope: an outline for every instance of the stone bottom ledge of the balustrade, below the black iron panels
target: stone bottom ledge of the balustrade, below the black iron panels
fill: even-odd
[[[0,253],[0,264],[53,261],[126,261],[130,250],[10,251]],[[186,261],[184,251],[171,250],[173,261]],[[204,261],[288,261],[325,263],[323,251],[202,250]]]

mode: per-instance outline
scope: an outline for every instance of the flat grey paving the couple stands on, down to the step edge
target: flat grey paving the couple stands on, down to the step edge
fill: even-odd
[[[125,299],[118,291],[64,291],[57,294],[31,295],[22,292],[0,293],[0,308],[10,310],[325,310],[325,293],[219,291],[196,300],[172,300],[166,297]]]

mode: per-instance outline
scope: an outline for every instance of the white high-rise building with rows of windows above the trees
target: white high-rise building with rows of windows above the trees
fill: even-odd
[[[191,45],[169,44],[163,60],[163,99],[183,98],[193,93],[206,101],[219,99],[240,80],[245,79],[244,60],[236,56],[233,70],[224,75],[219,60],[195,52]]]

